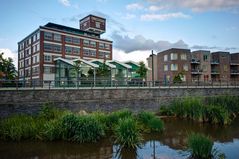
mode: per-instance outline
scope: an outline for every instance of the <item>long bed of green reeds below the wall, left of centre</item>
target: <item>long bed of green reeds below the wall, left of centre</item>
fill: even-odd
[[[113,113],[73,113],[50,104],[39,114],[15,115],[0,122],[3,140],[65,140],[78,143],[96,142],[112,135],[121,147],[136,148],[143,133],[162,132],[163,122],[153,113],[133,114],[123,109]]]

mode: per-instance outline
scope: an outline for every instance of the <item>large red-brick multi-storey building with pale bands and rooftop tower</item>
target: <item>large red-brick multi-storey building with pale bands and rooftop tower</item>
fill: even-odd
[[[80,20],[80,29],[47,23],[18,42],[19,80],[55,79],[55,61],[64,59],[112,60],[112,41],[100,37],[106,19],[89,15]]]

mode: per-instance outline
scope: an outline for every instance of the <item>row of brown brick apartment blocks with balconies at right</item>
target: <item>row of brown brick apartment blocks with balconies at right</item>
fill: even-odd
[[[168,49],[155,55],[157,72],[155,81],[173,81],[180,75],[182,81],[189,82],[228,82],[239,81],[239,53],[212,52],[188,49]],[[152,57],[147,58],[152,68]],[[152,72],[148,79],[152,79]]]

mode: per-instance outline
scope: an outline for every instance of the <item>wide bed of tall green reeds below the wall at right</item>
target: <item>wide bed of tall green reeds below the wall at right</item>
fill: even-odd
[[[177,98],[169,105],[161,107],[159,114],[227,125],[239,114],[239,97]]]

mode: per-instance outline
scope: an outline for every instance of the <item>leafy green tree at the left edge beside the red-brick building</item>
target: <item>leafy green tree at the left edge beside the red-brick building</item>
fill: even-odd
[[[14,80],[17,75],[12,58],[4,58],[4,53],[0,53],[0,79]]]

